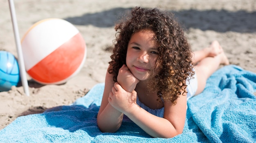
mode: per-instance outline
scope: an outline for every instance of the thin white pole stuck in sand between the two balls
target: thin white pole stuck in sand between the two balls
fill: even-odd
[[[22,54],[22,49],[21,49],[18,24],[17,24],[17,20],[16,20],[16,13],[15,13],[15,7],[14,7],[13,0],[9,0],[9,7],[10,7],[10,11],[11,11],[11,20],[12,20],[12,25],[13,25],[16,48],[17,48],[17,52],[18,52],[18,64],[19,64],[19,69],[20,69],[21,83],[22,83],[23,89],[25,91],[25,94],[27,96],[29,96],[29,86],[27,83],[25,64],[24,64],[24,59],[23,59],[23,54]]]

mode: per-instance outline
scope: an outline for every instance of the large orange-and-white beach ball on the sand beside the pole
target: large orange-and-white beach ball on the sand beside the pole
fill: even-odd
[[[27,74],[41,84],[63,84],[79,73],[86,58],[79,30],[62,19],[36,22],[21,39]]]

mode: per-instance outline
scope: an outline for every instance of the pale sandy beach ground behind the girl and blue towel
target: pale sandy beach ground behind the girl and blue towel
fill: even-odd
[[[0,129],[22,115],[69,105],[104,82],[115,22],[134,6],[158,7],[175,13],[186,28],[193,50],[218,40],[231,64],[256,72],[256,0],[14,0],[20,37],[35,22],[61,18],[79,29],[87,45],[83,68],[63,85],[41,85],[27,75],[23,87],[0,92]],[[0,0],[0,50],[17,56],[9,3]]]

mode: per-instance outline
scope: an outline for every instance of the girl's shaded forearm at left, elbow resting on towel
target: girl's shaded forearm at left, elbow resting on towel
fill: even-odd
[[[123,116],[123,113],[108,104],[97,117],[98,127],[101,132],[116,132],[121,126]]]

